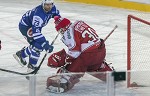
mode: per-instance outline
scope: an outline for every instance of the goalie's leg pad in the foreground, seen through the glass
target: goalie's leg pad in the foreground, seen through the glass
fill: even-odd
[[[56,75],[47,79],[47,90],[52,93],[63,93],[73,88],[79,82],[75,76]]]

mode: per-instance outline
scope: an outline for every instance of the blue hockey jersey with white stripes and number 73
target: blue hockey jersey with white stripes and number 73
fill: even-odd
[[[45,12],[42,5],[27,11],[20,21],[20,24],[32,28],[32,37],[37,42],[45,42],[46,39],[42,35],[41,30],[47,25],[48,21],[54,16],[60,16],[59,10],[53,5],[49,12]]]

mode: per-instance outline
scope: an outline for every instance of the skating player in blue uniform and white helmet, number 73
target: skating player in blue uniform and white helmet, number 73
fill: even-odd
[[[41,31],[54,16],[60,16],[60,14],[53,0],[43,0],[42,4],[27,11],[19,22],[19,30],[28,41],[29,46],[16,52],[13,56],[22,66],[27,65],[28,72],[37,67],[40,52],[45,50],[50,53],[53,51],[53,46],[49,44]],[[29,57],[28,64],[26,57]]]

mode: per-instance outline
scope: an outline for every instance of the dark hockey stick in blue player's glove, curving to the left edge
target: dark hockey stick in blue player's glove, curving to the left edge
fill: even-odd
[[[54,44],[54,42],[56,41],[57,37],[58,37],[59,33],[56,35],[55,39],[52,41],[51,45]],[[42,58],[42,61],[40,62],[39,66],[32,72],[29,73],[21,73],[21,72],[17,72],[17,71],[12,71],[12,70],[7,70],[7,69],[2,69],[0,68],[0,71],[4,71],[4,72],[9,72],[9,73],[14,73],[14,74],[18,74],[18,75],[29,75],[29,74],[36,74],[37,71],[40,69],[43,61],[45,60],[46,56],[47,56],[48,52],[45,53],[44,57]]]

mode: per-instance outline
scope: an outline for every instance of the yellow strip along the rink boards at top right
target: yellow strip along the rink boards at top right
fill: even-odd
[[[104,6],[111,6],[111,7],[118,7],[118,8],[150,12],[149,4],[132,2],[132,0],[65,0],[65,1],[104,5]]]

